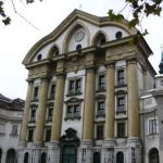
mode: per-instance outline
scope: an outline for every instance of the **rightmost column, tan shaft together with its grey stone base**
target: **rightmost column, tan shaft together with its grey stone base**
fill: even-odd
[[[128,140],[126,163],[139,162],[142,159],[142,145],[139,126],[139,87],[137,76],[137,61],[127,60],[127,88],[128,88]]]

